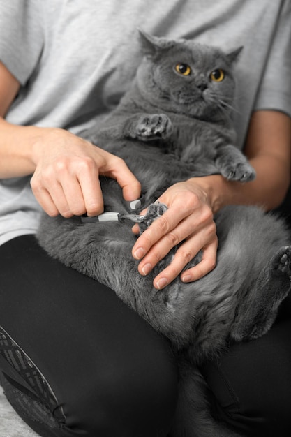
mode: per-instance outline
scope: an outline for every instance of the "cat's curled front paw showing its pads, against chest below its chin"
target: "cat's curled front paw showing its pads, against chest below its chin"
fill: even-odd
[[[137,135],[145,140],[168,138],[172,133],[172,122],[165,114],[150,114],[140,119]]]

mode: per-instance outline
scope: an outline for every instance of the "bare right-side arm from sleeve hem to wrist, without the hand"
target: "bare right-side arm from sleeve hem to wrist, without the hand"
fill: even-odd
[[[291,119],[283,112],[253,112],[245,153],[253,165],[252,182],[228,182],[221,175],[195,178],[205,191],[214,212],[225,205],[278,207],[290,184]]]

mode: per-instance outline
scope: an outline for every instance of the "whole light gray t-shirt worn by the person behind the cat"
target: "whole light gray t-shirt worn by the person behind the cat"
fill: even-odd
[[[137,28],[232,50],[238,147],[253,110],[291,116],[291,4],[286,0],[10,0],[0,3],[0,60],[22,87],[6,119],[79,133],[130,86],[141,54]],[[0,180],[0,244],[36,232],[30,177]]]

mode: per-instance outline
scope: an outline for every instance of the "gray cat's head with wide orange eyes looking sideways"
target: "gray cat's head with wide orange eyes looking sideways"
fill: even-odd
[[[242,47],[226,54],[217,47],[142,31],[140,41],[144,59],[137,70],[137,86],[152,105],[201,119],[229,112],[235,88],[233,64]]]

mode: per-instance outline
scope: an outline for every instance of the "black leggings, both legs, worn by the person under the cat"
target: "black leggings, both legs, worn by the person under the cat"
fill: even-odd
[[[43,437],[167,436],[177,369],[163,336],[33,236],[0,246],[0,266],[1,383],[31,428]],[[289,437],[290,301],[262,339],[202,373],[218,418],[246,436]]]

